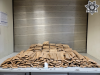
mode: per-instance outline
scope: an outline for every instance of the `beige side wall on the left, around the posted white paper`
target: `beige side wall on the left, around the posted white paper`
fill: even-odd
[[[0,58],[2,58],[13,52],[12,0],[0,0],[0,11],[8,15],[8,26],[0,26]]]

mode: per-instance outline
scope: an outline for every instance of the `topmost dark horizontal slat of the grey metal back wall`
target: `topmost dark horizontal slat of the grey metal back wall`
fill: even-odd
[[[22,2],[22,3],[21,3]],[[63,1],[56,1],[55,0],[46,0],[45,3],[43,0],[31,0],[29,1],[14,1],[15,6],[33,6],[33,5],[85,5],[87,2],[86,1],[68,1],[68,0],[63,0]]]

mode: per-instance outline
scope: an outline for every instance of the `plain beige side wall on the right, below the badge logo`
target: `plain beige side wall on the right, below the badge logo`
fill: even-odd
[[[87,53],[100,59],[100,0],[96,3],[99,5],[98,13],[89,14],[88,19]]]

